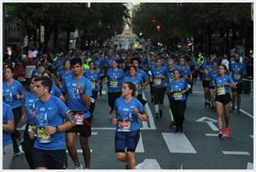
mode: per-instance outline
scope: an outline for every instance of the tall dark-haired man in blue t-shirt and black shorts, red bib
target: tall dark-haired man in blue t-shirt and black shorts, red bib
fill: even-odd
[[[75,148],[75,136],[80,134],[80,146],[83,149],[85,168],[90,169],[89,137],[90,125],[90,97],[92,96],[91,83],[83,76],[83,64],[81,58],[70,60],[74,76],[64,82],[64,92],[67,94],[68,107],[75,112],[76,125],[66,131],[67,147],[69,155],[74,161],[74,169],[83,169],[80,164],[77,149]]]

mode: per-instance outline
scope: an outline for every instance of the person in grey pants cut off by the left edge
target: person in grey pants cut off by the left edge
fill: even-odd
[[[14,117],[12,107],[3,102],[3,169],[11,169],[13,161]]]

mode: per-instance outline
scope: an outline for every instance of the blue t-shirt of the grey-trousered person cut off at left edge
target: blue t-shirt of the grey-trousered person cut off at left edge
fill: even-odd
[[[8,124],[8,120],[14,120],[13,110],[9,104],[3,102],[3,124]],[[12,143],[11,133],[3,130],[3,147]]]

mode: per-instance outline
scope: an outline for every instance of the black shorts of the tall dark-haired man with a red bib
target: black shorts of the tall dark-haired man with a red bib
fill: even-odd
[[[68,133],[79,133],[80,136],[85,138],[89,138],[91,135],[91,121],[90,119],[84,119],[84,124],[74,125],[71,129],[66,130],[66,134]]]

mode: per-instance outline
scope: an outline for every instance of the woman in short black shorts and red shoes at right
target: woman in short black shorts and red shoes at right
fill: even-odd
[[[229,135],[229,109],[231,104],[231,97],[229,94],[229,89],[236,89],[236,83],[233,82],[233,78],[231,78],[227,73],[228,69],[225,65],[220,65],[218,67],[219,76],[216,78],[216,112],[218,119],[218,137],[223,137],[223,111],[225,115],[225,133],[224,136]]]

